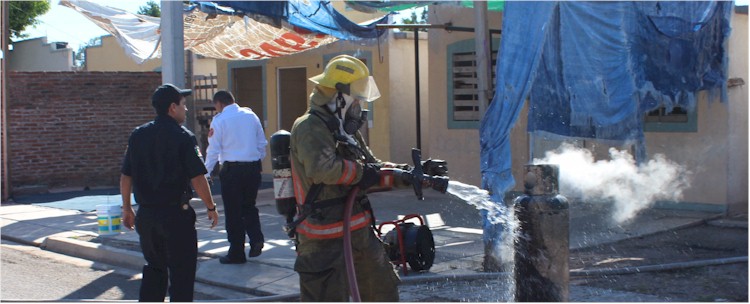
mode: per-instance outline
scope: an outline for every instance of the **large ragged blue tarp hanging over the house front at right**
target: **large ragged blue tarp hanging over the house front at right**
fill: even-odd
[[[733,3],[505,3],[496,94],[481,121],[482,186],[502,201],[515,184],[510,130],[529,97],[529,132],[640,142],[643,115],[726,100]]]

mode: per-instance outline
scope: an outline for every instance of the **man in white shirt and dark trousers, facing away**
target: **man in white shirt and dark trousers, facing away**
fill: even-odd
[[[258,115],[240,107],[228,91],[213,97],[219,114],[211,121],[206,151],[208,174],[217,161],[221,163],[221,198],[229,241],[229,251],[219,259],[222,264],[242,264],[245,258],[245,233],[250,238],[248,257],[257,257],[263,250],[255,199],[260,186],[261,160],[266,156],[266,135]]]

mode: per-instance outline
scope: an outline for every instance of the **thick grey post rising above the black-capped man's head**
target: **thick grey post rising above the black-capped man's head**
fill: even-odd
[[[161,1],[161,80],[185,87],[182,1]]]

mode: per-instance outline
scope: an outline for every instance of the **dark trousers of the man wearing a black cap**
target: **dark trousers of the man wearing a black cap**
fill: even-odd
[[[198,262],[195,211],[190,205],[140,206],[135,229],[146,259],[138,300],[164,302],[169,286],[172,302],[192,302]]]

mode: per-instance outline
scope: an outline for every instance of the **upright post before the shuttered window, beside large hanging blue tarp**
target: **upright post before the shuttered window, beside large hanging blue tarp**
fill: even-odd
[[[474,1],[474,48],[477,62],[477,101],[479,102],[479,119],[484,117],[489,104],[490,79],[492,79],[492,58],[490,53],[490,33],[487,23],[487,2]]]

